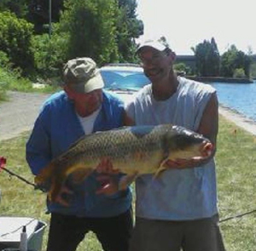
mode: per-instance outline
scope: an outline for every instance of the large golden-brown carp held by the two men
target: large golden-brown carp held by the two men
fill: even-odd
[[[106,157],[122,173],[157,176],[168,160],[211,153],[211,142],[201,134],[172,124],[117,128],[85,135],[43,168],[35,182],[49,183],[49,200],[55,201],[69,174],[79,173],[82,181]]]

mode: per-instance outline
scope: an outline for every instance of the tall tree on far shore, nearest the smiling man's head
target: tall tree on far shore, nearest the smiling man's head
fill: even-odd
[[[195,67],[198,76],[215,77],[219,75],[220,56],[217,43],[212,37],[211,42],[204,40],[195,48],[192,48],[195,54]]]

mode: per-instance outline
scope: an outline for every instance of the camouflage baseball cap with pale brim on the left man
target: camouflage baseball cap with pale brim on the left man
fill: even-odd
[[[90,93],[103,88],[102,75],[96,67],[96,62],[90,58],[77,58],[68,60],[63,67],[64,84],[69,84],[79,93]]]

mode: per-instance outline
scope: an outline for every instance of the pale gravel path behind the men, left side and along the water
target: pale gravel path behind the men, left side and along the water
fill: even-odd
[[[9,92],[9,101],[0,104],[0,141],[9,140],[31,130],[38,111],[49,94]],[[256,135],[256,123],[225,107],[219,114]]]

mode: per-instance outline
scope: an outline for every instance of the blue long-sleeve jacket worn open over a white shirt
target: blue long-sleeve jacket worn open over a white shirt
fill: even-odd
[[[96,117],[93,131],[119,128],[123,125],[124,106],[122,101],[103,91],[102,110]],[[73,107],[72,100],[64,91],[53,94],[44,102],[39,116],[26,143],[26,161],[32,174],[37,175],[47,164],[84,135],[84,130]],[[70,206],[49,203],[49,212],[84,217],[112,217],[124,213],[131,207],[131,191],[119,192],[111,197],[96,195],[100,187],[96,173],[82,184],[74,185],[71,179],[67,185],[73,189]]]

